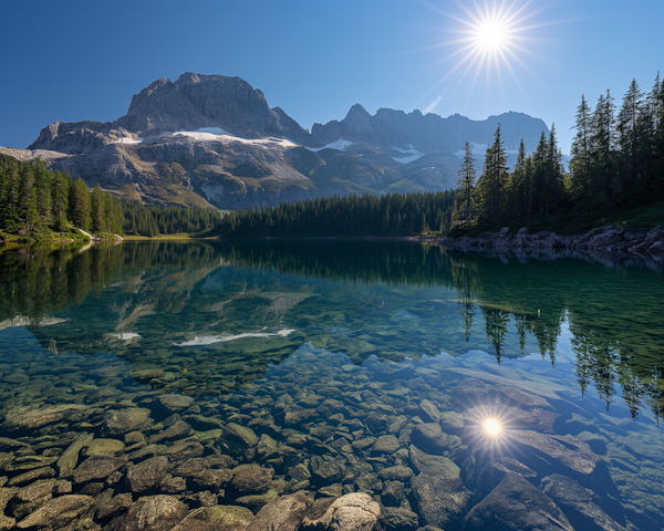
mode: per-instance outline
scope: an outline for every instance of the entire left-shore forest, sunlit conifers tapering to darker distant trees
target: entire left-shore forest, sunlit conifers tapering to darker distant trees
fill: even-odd
[[[42,160],[22,163],[0,155],[0,230],[43,237],[70,228],[95,235],[158,236],[209,231],[219,225],[215,210],[145,206],[125,201],[81,177],[51,171]]]

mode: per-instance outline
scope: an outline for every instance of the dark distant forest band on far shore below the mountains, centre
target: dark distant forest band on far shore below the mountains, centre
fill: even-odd
[[[225,216],[219,236],[406,236],[446,232],[455,191],[333,196],[240,210]]]

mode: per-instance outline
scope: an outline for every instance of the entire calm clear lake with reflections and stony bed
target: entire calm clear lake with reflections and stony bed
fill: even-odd
[[[132,529],[154,494],[245,529],[300,491],[388,530],[663,529],[663,268],[542,258],[0,251],[0,529]]]

